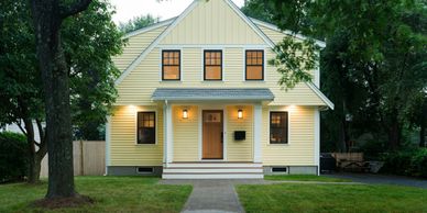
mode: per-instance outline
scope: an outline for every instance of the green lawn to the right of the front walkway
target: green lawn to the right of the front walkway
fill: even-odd
[[[369,184],[238,186],[251,212],[427,212],[427,190]]]

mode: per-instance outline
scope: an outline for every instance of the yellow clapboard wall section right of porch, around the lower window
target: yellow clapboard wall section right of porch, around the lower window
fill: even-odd
[[[271,111],[288,112],[288,144],[270,144]],[[264,166],[316,166],[314,107],[263,107],[262,113]]]

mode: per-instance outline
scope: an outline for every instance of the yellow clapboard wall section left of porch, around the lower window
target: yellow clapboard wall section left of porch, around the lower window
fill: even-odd
[[[156,144],[136,144],[136,113],[156,112]],[[157,107],[114,107],[110,122],[109,166],[162,166],[163,109]]]

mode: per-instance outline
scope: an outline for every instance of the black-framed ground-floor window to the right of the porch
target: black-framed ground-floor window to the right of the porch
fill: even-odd
[[[288,113],[270,113],[270,144],[288,143]]]

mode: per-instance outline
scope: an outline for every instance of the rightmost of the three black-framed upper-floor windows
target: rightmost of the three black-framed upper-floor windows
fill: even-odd
[[[264,51],[247,51],[247,80],[264,80]]]

